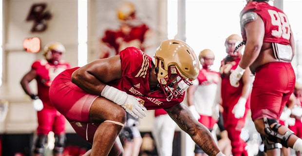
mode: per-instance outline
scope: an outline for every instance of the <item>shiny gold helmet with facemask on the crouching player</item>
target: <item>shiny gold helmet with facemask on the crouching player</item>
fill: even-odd
[[[192,85],[199,73],[199,61],[189,45],[178,39],[161,42],[155,54],[155,72],[167,99],[177,98]]]

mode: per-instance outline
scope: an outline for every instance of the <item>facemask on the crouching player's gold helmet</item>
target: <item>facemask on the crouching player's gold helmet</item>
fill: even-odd
[[[176,65],[170,65],[166,71],[163,61],[158,59],[156,68],[160,88],[167,96],[167,100],[178,98],[192,85],[192,80],[182,75]]]

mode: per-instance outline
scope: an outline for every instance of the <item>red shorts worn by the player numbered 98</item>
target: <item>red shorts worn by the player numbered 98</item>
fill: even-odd
[[[257,68],[251,93],[252,119],[279,119],[295,82],[291,63],[270,62]]]

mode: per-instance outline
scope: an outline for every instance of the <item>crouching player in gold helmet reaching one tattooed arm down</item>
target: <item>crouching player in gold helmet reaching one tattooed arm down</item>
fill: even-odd
[[[184,41],[170,39],[154,57],[155,64],[141,50],[128,47],[111,58],[66,70],[50,87],[51,101],[76,133],[92,143],[91,156],[121,156],[117,135],[126,112],[143,118],[146,109],[159,108],[209,156],[224,156],[208,129],[193,120],[182,103],[199,71],[194,51]]]

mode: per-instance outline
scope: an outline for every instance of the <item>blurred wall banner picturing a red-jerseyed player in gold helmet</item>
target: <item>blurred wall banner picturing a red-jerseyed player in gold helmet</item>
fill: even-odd
[[[100,0],[96,3],[99,37],[97,59],[117,55],[130,46],[153,55],[156,48],[156,1]]]

